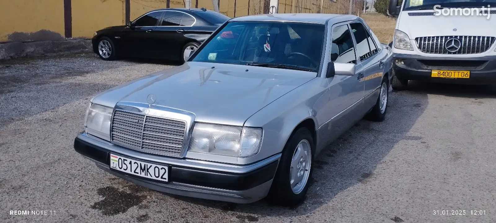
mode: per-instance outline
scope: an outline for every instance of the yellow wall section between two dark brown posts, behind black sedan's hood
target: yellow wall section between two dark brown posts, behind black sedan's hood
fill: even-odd
[[[72,37],[92,37],[99,29],[125,23],[124,0],[72,0],[71,4]]]

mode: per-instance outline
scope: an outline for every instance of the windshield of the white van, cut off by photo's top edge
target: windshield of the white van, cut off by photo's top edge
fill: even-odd
[[[496,3],[496,0],[404,0],[403,10],[434,9],[434,5],[439,8],[465,8],[465,7],[487,7]],[[401,0],[400,0],[401,2]]]

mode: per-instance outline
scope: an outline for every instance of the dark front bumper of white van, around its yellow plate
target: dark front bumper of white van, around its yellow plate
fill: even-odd
[[[403,64],[399,64],[398,59],[401,59]],[[496,56],[454,58],[395,54],[393,56],[393,69],[394,75],[404,80],[457,84],[496,84]],[[468,70],[470,71],[470,78],[431,77],[432,70]]]

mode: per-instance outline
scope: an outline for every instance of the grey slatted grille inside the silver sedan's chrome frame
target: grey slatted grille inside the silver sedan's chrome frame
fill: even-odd
[[[143,152],[181,156],[186,122],[116,110],[112,118],[113,143]]]

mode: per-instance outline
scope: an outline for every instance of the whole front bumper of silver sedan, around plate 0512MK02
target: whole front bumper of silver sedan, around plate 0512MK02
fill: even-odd
[[[267,196],[281,157],[277,154],[246,166],[226,165],[142,153],[86,133],[74,139],[74,150],[103,170],[143,187],[181,196],[243,204]],[[111,169],[110,152],[142,162],[170,166],[169,182],[158,183]]]

